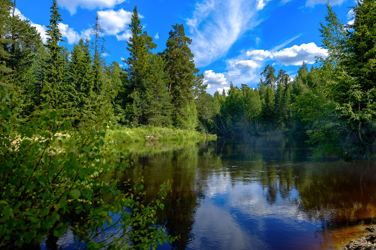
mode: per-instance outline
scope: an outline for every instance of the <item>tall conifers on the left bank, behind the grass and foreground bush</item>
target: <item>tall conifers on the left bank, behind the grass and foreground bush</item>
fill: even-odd
[[[91,39],[81,39],[67,51],[59,45],[64,40],[58,28],[62,18],[56,0],[46,26],[49,37],[45,45],[29,21],[14,15],[11,1],[1,4],[0,84],[30,100],[20,113],[24,117],[35,106],[50,103],[64,110],[64,121],[77,126],[87,117],[95,119],[95,108],[104,105],[103,98],[111,89],[117,91],[112,102],[120,124],[196,128],[194,99],[208,94],[182,24],[172,26],[164,52],[153,54],[156,44],[143,31],[135,7],[124,70],[115,61],[106,65],[102,58],[106,49],[100,16],[92,25]]]

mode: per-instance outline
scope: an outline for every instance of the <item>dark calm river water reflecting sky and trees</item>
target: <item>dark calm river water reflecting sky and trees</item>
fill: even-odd
[[[173,180],[158,249],[341,249],[376,223],[376,164],[321,160],[287,137],[125,144],[147,199]]]

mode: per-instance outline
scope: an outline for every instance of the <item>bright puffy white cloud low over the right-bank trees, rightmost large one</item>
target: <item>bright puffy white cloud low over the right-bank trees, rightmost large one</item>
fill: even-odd
[[[273,58],[282,65],[301,65],[303,61],[307,64],[315,63],[315,56],[327,57],[327,50],[318,47],[314,42],[303,43],[300,46],[294,45],[273,52]]]

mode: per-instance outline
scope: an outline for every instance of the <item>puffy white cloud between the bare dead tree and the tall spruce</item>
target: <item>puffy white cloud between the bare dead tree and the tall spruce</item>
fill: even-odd
[[[119,9],[117,11],[109,9],[109,10],[102,10],[98,11],[100,16],[100,26],[105,29],[105,33],[107,35],[116,35],[117,38],[122,37],[122,40],[126,40],[123,37],[125,33],[119,35],[122,31],[126,31],[130,24],[130,19],[132,18],[132,13],[124,9]],[[139,15],[139,18],[143,18],[143,16]],[[118,40],[120,40],[118,38]]]

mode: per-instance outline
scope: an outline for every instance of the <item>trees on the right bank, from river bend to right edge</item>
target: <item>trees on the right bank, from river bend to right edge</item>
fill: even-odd
[[[321,23],[326,58],[303,62],[293,81],[270,65],[257,89],[230,85],[213,97],[214,126],[223,134],[308,135],[316,156],[376,159],[376,3],[358,1],[353,23],[327,5]]]

